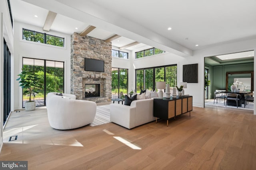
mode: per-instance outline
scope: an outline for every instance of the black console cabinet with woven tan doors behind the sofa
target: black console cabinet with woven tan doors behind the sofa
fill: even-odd
[[[192,96],[181,96],[172,98],[154,98],[154,117],[164,119],[167,121],[172,119],[178,115],[182,115],[184,113],[192,111]]]

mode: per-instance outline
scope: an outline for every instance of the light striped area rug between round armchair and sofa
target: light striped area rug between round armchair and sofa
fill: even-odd
[[[110,105],[97,106],[94,121],[90,126],[98,126],[105,123],[110,123]]]

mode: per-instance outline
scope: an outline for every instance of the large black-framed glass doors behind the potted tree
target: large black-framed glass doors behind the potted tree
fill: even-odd
[[[64,62],[23,58],[23,66],[25,65],[35,70],[38,77],[44,82],[42,89],[32,96],[36,101],[36,106],[45,106],[46,94],[49,92],[64,93]],[[23,93],[22,98],[22,107],[24,107],[29,96]]]

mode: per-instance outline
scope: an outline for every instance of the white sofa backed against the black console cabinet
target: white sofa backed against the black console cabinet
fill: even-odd
[[[154,120],[153,98],[134,100],[131,106],[110,104],[110,121],[128,129]]]

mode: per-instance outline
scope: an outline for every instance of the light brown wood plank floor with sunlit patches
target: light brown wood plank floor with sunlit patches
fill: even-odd
[[[8,142],[15,134],[18,140]],[[130,130],[108,123],[60,131],[49,126],[42,107],[11,115],[0,160],[27,160],[29,170],[255,170],[256,115],[193,107],[191,117],[181,115],[169,127],[159,120]]]

